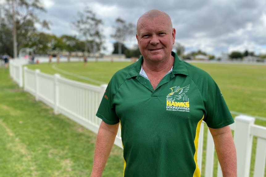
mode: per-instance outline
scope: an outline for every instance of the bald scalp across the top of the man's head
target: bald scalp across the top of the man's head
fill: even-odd
[[[161,10],[149,10],[147,12],[145,12],[143,15],[141,15],[139,17],[139,20],[137,22],[137,31],[139,26],[143,26],[142,24],[142,20],[143,19],[154,19],[154,18],[158,18],[160,16],[164,16],[165,20],[169,23],[169,26],[172,28],[172,21],[171,18],[168,14],[166,14],[165,12],[161,11]]]

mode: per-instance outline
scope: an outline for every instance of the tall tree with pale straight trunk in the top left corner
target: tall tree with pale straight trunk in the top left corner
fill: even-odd
[[[14,11],[12,10],[14,8]],[[39,0],[6,0],[2,6],[4,18],[1,19],[1,32],[4,30],[4,34],[1,36],[17,36],[17,38],[12,42],[12,38],[9,38],[7,43],[15,44],[14,48],[11,49],[12,53],[14,51],[14,57],[16,57],[16,48],[21,49],[24,44],[31,41],[31,35],[35,33],[35,24],[39,23],[44,28],[49,29],[49,22],[41,21],[36,13],[38,11],[45,11],[42,3]],[[14,22],[14,23],[13,23]],[[5,29],[9,30],[6,31]],[[12,33],[13,29],[15,33]],[[0,38],[2,40],[3,38]],[[0,41],[2,43],[4,41]],[[10,46],[9,46],[10,47]],[[2,52],[2,51],[0,51]],[[10,52],[11,53],[11,52]]]

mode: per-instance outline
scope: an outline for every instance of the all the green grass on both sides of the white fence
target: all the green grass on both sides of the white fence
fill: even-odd
[[[131,62],[28,65],[48,74],[100,85]],[[266,117],[266,65],[193,63],[215,79],[231,111]],[[94,79],[95,81],[92,81]],[[23,92],[0,68],[0,177],[89,176],[96,135]],[[266,126],[266,121],[256,120]],[[255,140],[256,141],[256,140]],[[114,146],[103,177],[123,175],[123,151]],[[251,167],[251,174],[252,174]]]

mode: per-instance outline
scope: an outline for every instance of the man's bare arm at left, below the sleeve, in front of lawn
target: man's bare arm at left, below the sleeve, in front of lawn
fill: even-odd
[[[114,139],[118,131],[118,123],[109,125],[102,121],[97,135],[93,168],[91,177],[101,177],[111,149],[114,145]]]

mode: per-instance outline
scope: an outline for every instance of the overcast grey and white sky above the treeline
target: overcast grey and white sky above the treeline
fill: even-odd
[[[44,0],[46,13],[39,18],[52,22],[49,32],[77,35],[71,22],[85,6],[102,19],[106,36],[106,52],[112,52],[110,34],[114,34],[116,18],[136,24],[151,9],[163,10],[172,18],[176,42],[185,46],[185,53],[202,50],[216,56],[245,50],[266,54],[265,0]],[[39,30],[42,30],[39,28]],[[137,44],[135,36],[126,45]]]

